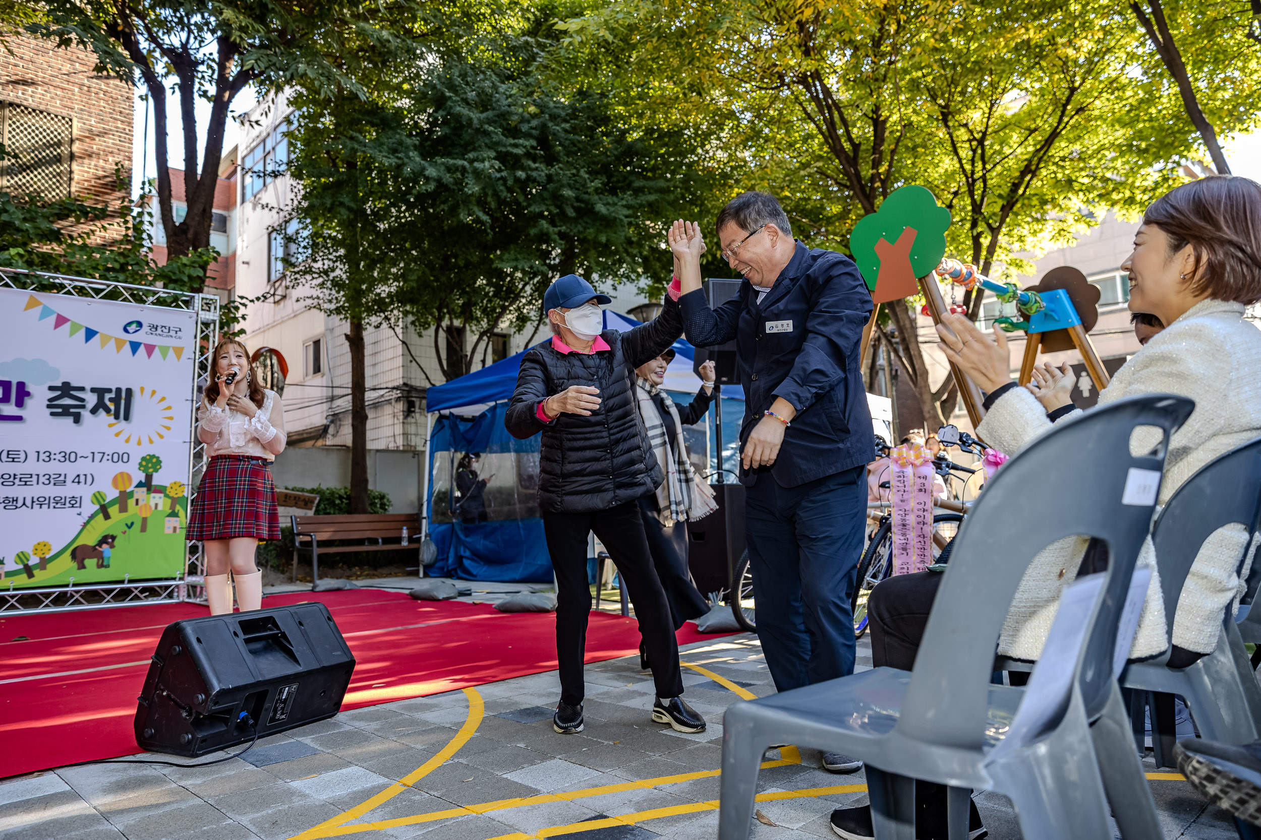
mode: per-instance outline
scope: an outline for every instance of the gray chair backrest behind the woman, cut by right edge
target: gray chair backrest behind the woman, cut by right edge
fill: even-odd
[[[1261,437],[1221,455],[1187,479],[1165,504],[1151,528],[1160,591],[1165,598],[1165,630],[1173,639],[1178,598],[1200,545],[1223,525],[1240,523],[1248,535],[1261,515]],[[1242,555],[1240,557],[1242,562]],[[1166,659],[1165,654],[1161,659]]]

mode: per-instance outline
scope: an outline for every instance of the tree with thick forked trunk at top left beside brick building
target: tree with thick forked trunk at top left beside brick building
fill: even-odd
[[[87,48],[97,57],[97,72],[145,86],[154,107],[158,217],[173,258],[209,246],[224,128],[233,99],[247,84],[261,94],[295,83],[362,93],[329,59],[327,44],[346,31],[368,43],[396,37],[378,26],[381,6],[354,0],[47,0],[43,6],[45,20],[29,24],[29,31],[58,47]],[[179,223],[168,169],[168,86],[183,127],[188,214]],[[195,118],[198,99],[211,103],[204,132]]]

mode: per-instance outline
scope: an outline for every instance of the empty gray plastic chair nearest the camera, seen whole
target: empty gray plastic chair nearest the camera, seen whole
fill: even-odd
[[[1105,778],[1115,782],[1107,798],[1122,835],[1161,836],[1112,673],[1120,611],[1155,500],[1121,497],[1131,470],[1161,470],[1169,434],[1193,409],[1184,397],[1121,399],[1062,421],[1004,466],[958,533],[913,671],[878,667],[728,708],[720,840],[749,836],[758,767],[774,743],[863,759],[879,840],[914,839],[915,778],[950,786],[950,840],[967,837],[968,788],[1010,797],[1026,840],[1111,840]],[[1137,426],[1164,431],[1154,455],[1130,455]],[[1078,534],[1105,540],[1112,562],[1068,708],[1044,737],[990,766],[986,756],[1024,694],[990,684],[1008,608],[1034,555]],[[1102,777],[1100,762],[1108,768]]]

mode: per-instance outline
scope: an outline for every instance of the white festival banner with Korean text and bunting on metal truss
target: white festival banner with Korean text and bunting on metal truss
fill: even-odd
[[[0,588],[183,572],[194,319],[0,288]]]

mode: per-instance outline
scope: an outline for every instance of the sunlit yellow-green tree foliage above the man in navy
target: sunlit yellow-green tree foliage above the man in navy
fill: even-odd
[[[700,123],[728,110],[720,154],[743,159],[741,186],[778,194],[813,244],[845,249],[861,217],[922,184],[953,217],[948,254],[1028,270],[1019,252],[1071,241],[1106,209],[1140,210],[1195,155],[1115,5],[613,0],[561,28],[601,84],[660,89]],[[1256,112],[1241,105],[1226,130]],[[980,296],[962,302],[977,317]],[[924,416],[948,416],[952,383],[929,387],[914,311],[885,311],[893,329],[876,335]]]

